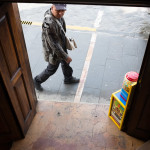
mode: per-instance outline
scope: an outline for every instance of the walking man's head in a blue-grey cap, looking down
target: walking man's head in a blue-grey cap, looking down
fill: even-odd
[[[51,12],[54,17],[60,19],[63,17],[66,11],[66,4],[53,4],[51,7]]]

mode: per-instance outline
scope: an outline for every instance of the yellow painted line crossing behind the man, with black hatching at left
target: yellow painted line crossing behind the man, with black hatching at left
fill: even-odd
[[[26,24],[26,25],[42,26],[41,22],[21,21],[21,23]],[[71,29],[71,30],[96,31],[96,28],[90,28],[90,27],[80,27],[80,26],[67,25],[66,28]]]

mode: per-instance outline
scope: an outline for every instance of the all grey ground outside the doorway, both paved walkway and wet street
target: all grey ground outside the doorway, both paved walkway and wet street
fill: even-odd
[[[41,23],[49,7],[47,4],[19,4],[21,20]],[[76,77],[84,73],[91,37],[96,34],[80,102],[109,104],[111,93],[121,88],[125,73],[140,72],[150,32],[148,8],[68,5],[64,18],[71,26],[67,35],[78,44],[75,51],[69,52]],[[23,24],[22,27],[35,77],[47,66],[42,53],[41,26]],[[95,31],[82,30],[83,27]],[[42,86],[43,92],[36,91],[39,100],[73,102],[79,89],[79,84],[63,84],[61,68]]]

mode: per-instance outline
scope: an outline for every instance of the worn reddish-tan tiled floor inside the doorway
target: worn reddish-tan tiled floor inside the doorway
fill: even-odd
[[[39,101],[26,138],[11,150],[135,150],[142,141],[119,131],[109,105]]]

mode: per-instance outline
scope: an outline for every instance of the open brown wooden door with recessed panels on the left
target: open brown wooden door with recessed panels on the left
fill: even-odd
[[[36,112],[36,95],[17,4],[0,6],[0,74],[24,136]]]

